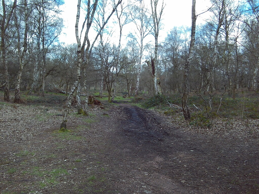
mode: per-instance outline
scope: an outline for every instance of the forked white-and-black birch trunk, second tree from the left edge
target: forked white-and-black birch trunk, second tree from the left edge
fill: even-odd
[[[16,15],[16,13],[15,13]],[[18,18],[15,16],[16,19],[16,26],[17,26],[17,38],[18,38],[18,55],[19,55],[19,71],[17,74],[16,86],[15,86],[15,96],[14,102],[20,103],[20,84],[21,84],[21,73],[23,72],[23,67],[25,64],[25,55],[27,53],[27,36],[28,36],[28,9],[27,9],[27,0],[24,1],[24,15],[25,15],[25,30],[24,30],[24,41],[23,41],[23,51],[21,52],[20,48],[20,31],[18,27]]]

